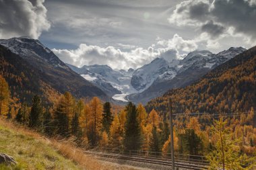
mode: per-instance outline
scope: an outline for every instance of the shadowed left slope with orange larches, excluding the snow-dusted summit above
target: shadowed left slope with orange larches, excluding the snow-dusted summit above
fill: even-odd
[[[1,45],[0,73],[9,84],[13,99],[22,102],[32,101],[32,97],[38,94],[46,104],[53,103],[65,91],[70,91],[75,97],[109,99],[102,90],[70,69],[51,65],[44,58],[24,58]]]

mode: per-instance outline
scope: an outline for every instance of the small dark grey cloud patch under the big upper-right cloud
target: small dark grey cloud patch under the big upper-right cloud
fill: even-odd
[[[203,24],[203,26],[201,26],[201,30],[203,32],[207,32],[214,38],[223,34],[225,28],[219,24],[214,24],[214,22],[211,20],[210,22]]]

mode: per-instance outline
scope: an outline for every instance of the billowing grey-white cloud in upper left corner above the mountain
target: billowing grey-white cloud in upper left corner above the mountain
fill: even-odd
[[[0,38],[29,36],[38,38],[49,30],[44,0],[0,0]]]

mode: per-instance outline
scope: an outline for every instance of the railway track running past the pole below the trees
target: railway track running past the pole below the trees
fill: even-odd
[[[86,151],[86,154],[95,155],[98,157],[110,158],[110,159],[121,159],[125,161],[134,161],[139,163],[151,163],[154,165],[162,165],[162,166],[171,166],[172,162],[168,159],[159,159],[159,158],[152,158],[152,157],[142,157],[137,155],[122,155],[116,153],[102,153],[102,152],[95,152],[95,151]],[[175,167],[183,168],[183,169],[194,169],[194,170],[201,170],[207,169],[207,163],[197,163],[191,161],[183,161],[181,159],[177,159],[175,161]]]

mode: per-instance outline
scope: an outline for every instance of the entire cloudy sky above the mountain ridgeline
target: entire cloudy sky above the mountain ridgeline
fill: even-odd
[[[77,67],[251,48],[255,28],[256,0],[0,0],[0,38],[38,39]]]

